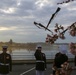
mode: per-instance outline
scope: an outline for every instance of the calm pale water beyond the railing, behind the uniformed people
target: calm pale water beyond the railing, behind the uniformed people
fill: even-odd
[[[67,51],[68,57],[74,58],[74,55],[72,55],[69,52],[68,47],[67,47],[67,49],[68,49],[68,51]],[[0,53],[1,52],[2,51],[0,51]],[[49,47],[44,46],[42,52],[45,53],[46,59],[54,59],[55,54],[57,52],[59,52],[59,50],[58,50],[58,46],[56,46],[56,45],[49,46]],[[8,51],[8,53],[9,53],[9,51]],[[12,56],[13,60],[35,60],[34,53],[35,53],[35,50],[33,50],[33,51],[26,50],[26,49],[12,50],[11,56]]]

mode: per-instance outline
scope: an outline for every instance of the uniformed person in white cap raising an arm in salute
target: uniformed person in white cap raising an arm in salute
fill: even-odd
[[[42,47],[38,46],[34,54],[36,58],[36,75],[44,75],[46,70],[46,55],[41,52]]]

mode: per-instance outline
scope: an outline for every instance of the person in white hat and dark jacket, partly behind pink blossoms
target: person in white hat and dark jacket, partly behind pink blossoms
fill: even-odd
[[[53,75],[55,75],[56,69],[61,68],[62,64],[68,62],[67,48],[65,46],[60,46],[60,50],[55,54],[54,63],[53,63]]]

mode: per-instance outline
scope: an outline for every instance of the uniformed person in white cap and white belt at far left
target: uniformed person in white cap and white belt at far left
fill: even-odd
[[[0,54],[0,75],[9,75],[12,71],[11,55],[7,53],[8,46],[2,46],[2,53]]]

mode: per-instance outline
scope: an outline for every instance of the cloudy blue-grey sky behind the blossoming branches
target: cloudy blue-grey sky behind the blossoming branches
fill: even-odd
[[[49,25],[54,30],[58,23],[65,29],[76,22],[76,1],[57,3],[67,0],[0,0],[0,41],[8,42],[45,42],[51,32],[39,29],[34,21],[47,26],[47,23],[58,7],[61,10]],[[66,39],[58,39],[57,43],[76,42],[76,37],[65,33]]]

